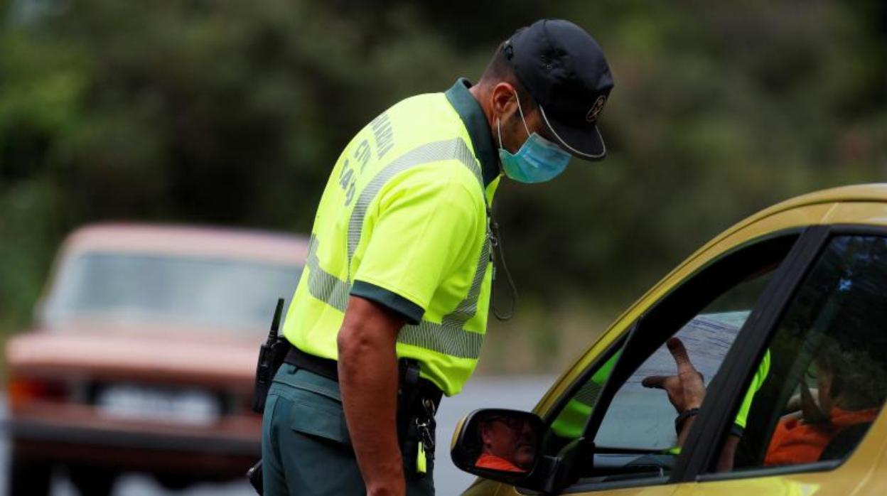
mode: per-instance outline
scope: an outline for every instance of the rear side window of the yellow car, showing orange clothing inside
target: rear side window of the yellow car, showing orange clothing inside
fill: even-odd
[[[887,398],[885,295],[887,239],[829,241],[775,327],[734,470],[852,453]]]

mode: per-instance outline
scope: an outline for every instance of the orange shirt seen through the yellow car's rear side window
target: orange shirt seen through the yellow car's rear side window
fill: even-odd
[[[831,422],[806,424],[800,419],[780,421],[773,432],[770,447],[764,458],[765,465],[796,465],[819,461],[832,437],[845,427],[875,421],[880,408],[848,412],[832,408]]]

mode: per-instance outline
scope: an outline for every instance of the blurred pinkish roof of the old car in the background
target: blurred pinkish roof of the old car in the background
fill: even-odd
[[[308,240],[281,232],[194,225],[90,224],[71,233],[64,253],[123,252],[304,264]]]

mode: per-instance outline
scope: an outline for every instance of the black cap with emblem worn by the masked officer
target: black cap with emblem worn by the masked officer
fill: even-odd
[[[544,19],[515,31],[502,50],[559,145],[580,159],[604,158],[597,121],[613,76],[594,38],[569,20]]]

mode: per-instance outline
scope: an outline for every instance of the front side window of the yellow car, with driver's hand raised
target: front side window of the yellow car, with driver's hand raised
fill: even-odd
[[[665,345],[674,336],[709,383],[795,240],[797,236],[786,235],[735,250],[663,297],[636,324],[631,356],[625,356],[626,349],[616,350],[574,386],[552,416],[544,449],[556,453],[582,435],[606,385],[617,390],[594,437],[594,468],[585,475],[601,481],[666,475],[679,453],[677,412],[665,391],[646,388],[642,382],[649,376],[676,374],[675,359]],[[618,384],[608,384],[619,360],[631,360],[633,372]]]

